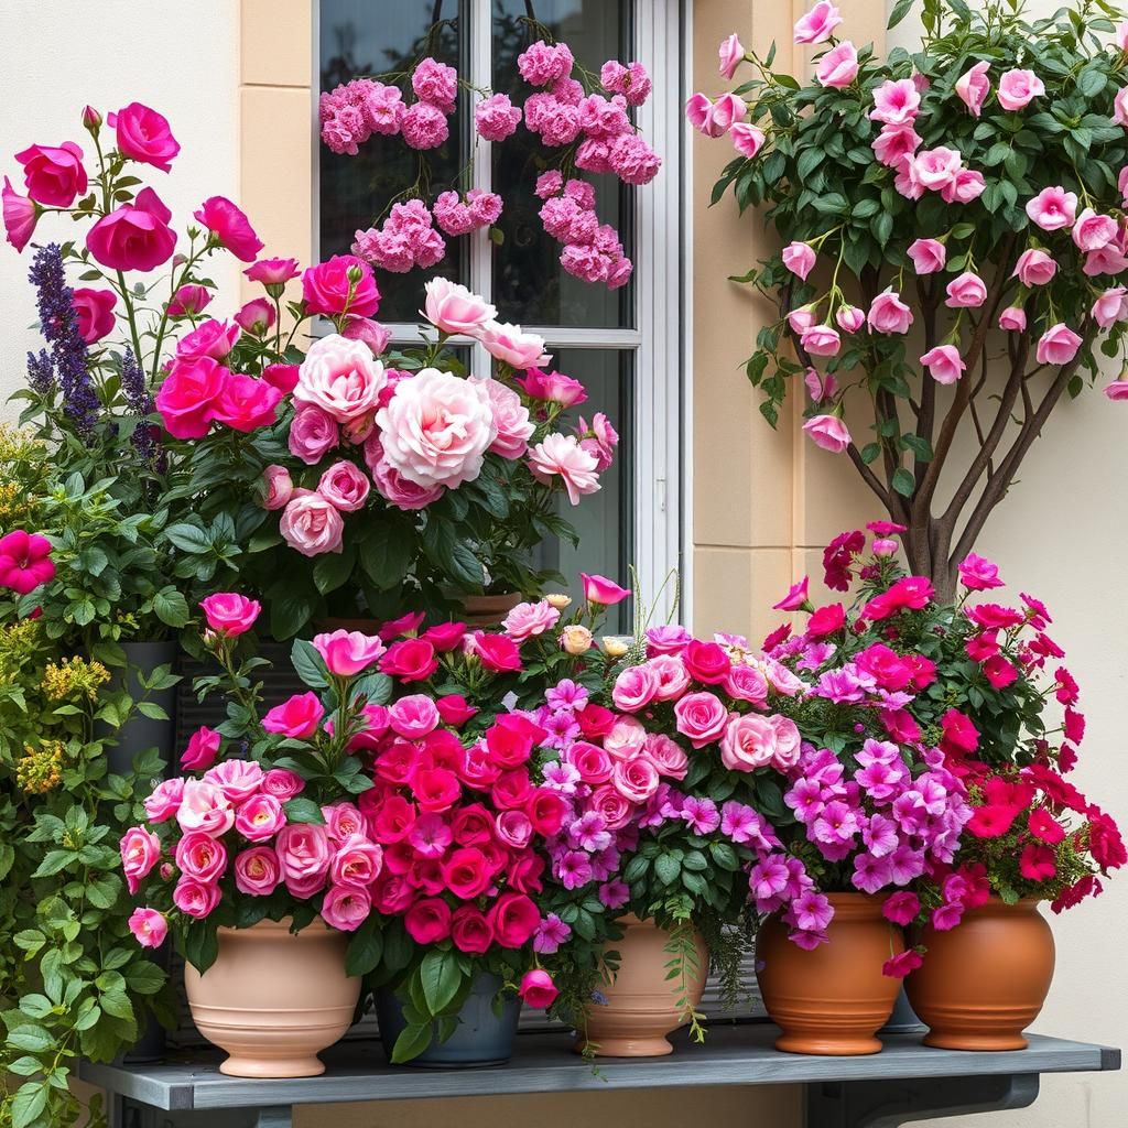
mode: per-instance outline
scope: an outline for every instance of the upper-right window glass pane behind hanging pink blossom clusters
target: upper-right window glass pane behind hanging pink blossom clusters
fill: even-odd
[[[543,34],[529,23],[530,15],[554,38],[569,44],[578,63],[598,71],[608,59],[632,58],[631,7],[627,0],[494,0],[494,90],[508,94],[514,105],[523,105],[535,92],[517,70],[517,56]],[[523,126],[493,147],[493,186],[505,201],[497,223],[504,243],[494,250],[493,301],[499,317],[523,325],[632,328],[633,280],[608,290],[573,277],[561,266],[563,248],[545,232],[538,215],[543,201],[534,193],[537,176],[546,167],[544,152],[540,138]],[[610,174],[581,171],[579,176],[596,185],[600,222],[618,230],[633,258],[633,190]]]

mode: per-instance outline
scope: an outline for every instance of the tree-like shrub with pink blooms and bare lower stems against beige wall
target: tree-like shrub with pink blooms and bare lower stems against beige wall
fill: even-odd
[[[1095,379],[1099,352],[1122,355],[1128,25],[1104,3],[1030,23],[1021,6],[926,0],[922,16],[922,50],[881,61],[816,5],[795,25],[816,47],[803,85],[731,36],[721,73],[747,78],[687,114],[737,150],[714,202],[731,188],[783,244],[734,280],[779,308],[748,361],[761,412],[775,425],[802,378],[808,435],[847,455],[951,602],[1061,396]],[[865,440],[852,394],[872,403]],[[953,458],[963,434],[972,453]]]

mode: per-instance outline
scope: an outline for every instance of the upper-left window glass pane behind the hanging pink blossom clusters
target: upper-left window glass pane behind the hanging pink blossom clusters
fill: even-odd
[[[320,82],[323,90],[360,76],[381,78],[409,71],[425,55],[468,73],[469,0],[321,0]],[[406,78],[381,78],[407,91]],[[355,157],[337,155],[318,144],[320,160],[320,254],[349,254],[356,230],[382,220],[395,197],[416,184],[423,167],[430,187],[421,185],[426,201],[453,186],[465,165],[467,140],[460,127],[467,121],[465,94],[449,118],[450,138],[424,155],[408,149],[402,136],[373,134]],[[378,224],[377,224],[378,226]],[[466,239],[448,239],[447,257],[431,270],[389,274],[377,270],[382,321],[416,321],[423,283],[435,274],[467,282]]]

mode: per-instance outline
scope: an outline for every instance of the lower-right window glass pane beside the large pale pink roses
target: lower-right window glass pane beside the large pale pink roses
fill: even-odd
[[[549,346],[550,347],[550,346]],[[580,535],[580,547],[556,538],[538,548],[540,567],[555,569],[567,581],[573,599],[582,596],[580,573],[606,575],[629,587],[627,566],[633,558],[634,499],[631,466],[634,433],[634,353],[611,349],[554,349],[554,368],[574,377],[588,389],[588,400],[573,411],[589,422],[602,412],[619,433],[618,457],[600,475],[600,490],[580,500],[573,509],[567,495],[557,503],[561,517]],[[631,631],[631,601],[608,611],[613,633]]]

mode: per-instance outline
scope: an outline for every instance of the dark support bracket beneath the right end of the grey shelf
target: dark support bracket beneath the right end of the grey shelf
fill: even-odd
[[[1038,1098],[1038,1075],[918,1077],[807,1085],[804,1128],[900,1128],[911,1120],[1024,1109]]]

